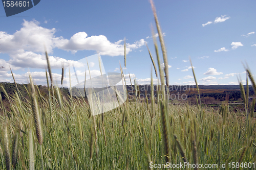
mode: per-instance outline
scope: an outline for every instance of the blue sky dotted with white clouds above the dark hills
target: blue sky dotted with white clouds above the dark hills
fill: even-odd
[[[256,68],[255,1],[155,1],[168,56],[169,84],[238,84],[246,79],[242,62]],[[75,63],[100,53],[106,72],[124,67],[139,84],[150,83],[151,59],[156,60],[150,3],[146,1],[41,1],[23,13],[6,17],[0,5],[0,82],[46,84],[45,47],[53,76],[60,83],[61,63]],[[207,24],[208,23],[208,24]],[[128,76],[128,77],[127,77]],[[156,77],[154,77],[156,79]]]

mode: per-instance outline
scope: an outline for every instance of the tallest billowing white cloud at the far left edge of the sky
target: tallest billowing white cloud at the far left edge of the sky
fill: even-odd
[[[39,27],[36,20],[24,20],[23,27],[13,35],[7,32],[0,32],[1,53],[20,53],[32,51],[44,53],[45,47],[49,53],[55,46],[56,41],[61,41],[62,37],[55,37],[56,29],[47,29]]]

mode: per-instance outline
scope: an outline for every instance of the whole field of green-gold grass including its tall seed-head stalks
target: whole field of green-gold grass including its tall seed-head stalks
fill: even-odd
[[[150,57],[161,82],[158,93],[166,96],[167,56],[153,3],[152,8],[166,69],[160,67],[156,37],[160,69],[157,70],[151,53]],[[49,60],[48,71],[51,77]],[[248,67],[246,71],[255,93]],[[197,84],[194,69],[193,74]],[[114,110],[92,116],[83,98],[63,98],[61,90],[50,83],[49,97],[43,98],[31,77],[30,82],[29,100],[18,89],[13,96],[5,93],[10,111],[0,100],[0,169],[151,169],[152,163],[166,162],[217,164],[218,168],[226,163],[226,169],[234,169],[228,163],[236,162],[238,169],[256,167],[256,122],[250,109],[254,106],[248,106],[242,85],[242,114],[229,111],[225,102],[216,110],[200,105],[176,106],[164,98],[151,104],[127,100]],[[158,166],[163,167],[155,167]]]

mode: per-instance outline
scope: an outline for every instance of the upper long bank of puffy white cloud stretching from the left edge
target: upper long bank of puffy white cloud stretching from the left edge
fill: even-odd
[[[94,50],[101,55],[119,56],[123,55],[124,47],[120,44],[123,40],[110,42],[104,35],[88,37],[86,32],[74,34],[69,40],[55,36],[56,29],[47,29],[39,26],[36,20],[24,20],[22,28],[14,34],[0,32],[1,53],[17,54],[30,51],[33,53],[44,53],[45,47],[48,53],[53,48],[76,53],[79,50]],[[126,43],[126,54],[144,45],[144,39],[133,44]]]

